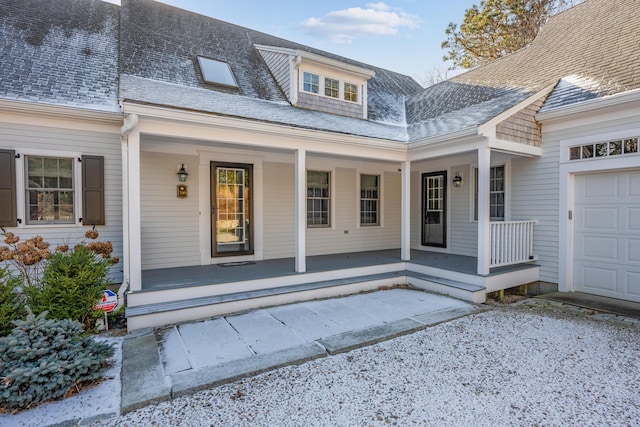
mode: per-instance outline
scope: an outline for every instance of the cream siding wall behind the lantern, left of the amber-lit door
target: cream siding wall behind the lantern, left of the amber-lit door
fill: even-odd
[[[189,172],[186,199],[177,197],[182,163]],[[195,156],[140,153],[143,270],[200,264],[198,165]]]

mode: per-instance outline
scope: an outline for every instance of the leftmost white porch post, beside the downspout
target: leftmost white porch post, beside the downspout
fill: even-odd
[[[140,222],[140,132],[127,138],[127,204],[129,219],[129,290],[142,290],[142,237]]]

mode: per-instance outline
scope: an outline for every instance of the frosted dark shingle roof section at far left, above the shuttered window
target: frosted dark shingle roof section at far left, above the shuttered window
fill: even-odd
[[[118,6],[2,0],[0,97],[120,111]]]

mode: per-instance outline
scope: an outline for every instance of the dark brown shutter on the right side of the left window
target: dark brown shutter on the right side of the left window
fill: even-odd
[[[82,224],[105,224],[102,156],[82,156]]]

